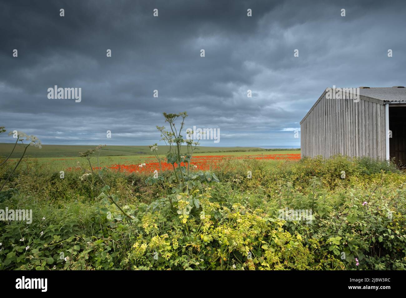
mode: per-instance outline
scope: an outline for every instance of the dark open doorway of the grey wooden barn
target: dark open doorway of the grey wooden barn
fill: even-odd
[[[400,167],[406,165],[406,106],[389,105],[389,157]]]

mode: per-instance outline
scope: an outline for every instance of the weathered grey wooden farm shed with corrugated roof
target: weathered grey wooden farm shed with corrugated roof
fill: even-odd
[[[341,94],[339,99],[331,99],[331,90]],[[405,115],[406,88],[402,86],[360,87],[355,100],[339,88],[327,88],[300,122],[302,157],[394,157],[395,163],[404,165]]]

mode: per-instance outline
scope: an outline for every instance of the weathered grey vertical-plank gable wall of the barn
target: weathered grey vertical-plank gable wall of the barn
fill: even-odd
[[[324,92],[300,122],[300,132],[302,157],[386,157],[385,106],[378,100],[326,99]]]

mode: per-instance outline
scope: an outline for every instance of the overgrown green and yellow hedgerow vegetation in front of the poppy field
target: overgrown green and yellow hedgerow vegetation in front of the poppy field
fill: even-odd
[[[187,115],[164,116],[172,127]],[[154,174],[104,167],[102,146],[63,173],[45,159],[4,163],[0,217],[32,210],[32,223],[3,217],[0,269],[406,268],[406,175],[392,164],[223,159],[203,172],[179,127],[158,129],[171,146],[150,152],[173,168]]]

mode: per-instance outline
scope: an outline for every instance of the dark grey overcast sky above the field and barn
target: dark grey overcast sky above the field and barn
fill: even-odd
[[[0,25],[0,126],[43,144],[149,145],[162,112],[187,111],[220,129],[206,146],[298,148],[325,88],[406,84],[404,1],[13,0]]]

